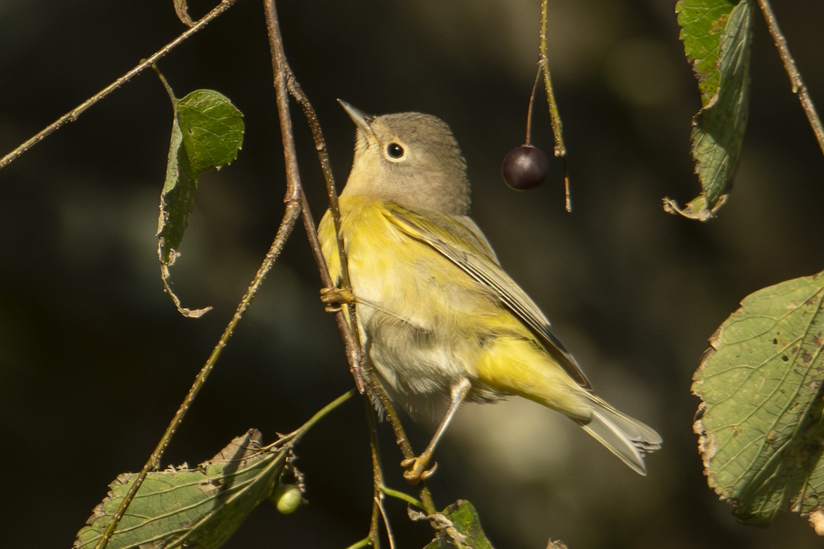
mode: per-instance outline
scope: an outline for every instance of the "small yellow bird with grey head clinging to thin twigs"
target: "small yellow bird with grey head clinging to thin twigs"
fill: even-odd
[[[462,403],[510,396],[568,416],[646,475],[644,457],[661,437],[592,392],[545,314],[503,270],[470,217],[466,160],[447,123],[339,103],[356,127],[353,163],[339,234],[327,211],[318,238],[337,285],[343,243],[350,287],[341,291],[368,367],[394,404],[440,419],[424,452],[401,463],[406,480],[434,472],[434,449]]]

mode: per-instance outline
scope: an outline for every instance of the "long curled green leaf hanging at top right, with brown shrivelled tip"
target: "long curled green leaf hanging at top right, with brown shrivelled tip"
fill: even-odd
[[[701,194],[684,208],[667,198],[664,208],[706,221],[725,201],[747,128],[752,6],[750,0],[680,0],[676,11],[703,105],[691,133]]]

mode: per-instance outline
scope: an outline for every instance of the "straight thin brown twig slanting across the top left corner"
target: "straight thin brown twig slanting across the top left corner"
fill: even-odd
[[[181,42],[187,40],[198,30],[203,29],[204,26],[207,26],[208,23],[215,17],[219,16],[223,12],[226,12],[227,9],[232,7],[235,2],[237,2],[237,0],[222,0],[217,7],[215,7],[211,12],[208,12],[208,14],[195,23],[194,26],[191,26],[188,30],[185,30],[185,32],[178,36],[175,40],[172,40],[169,44],[166,44],[161,49],[158,49],[157,52],[140,62],[136,67],[129,72],[126,72],[122,77],[119,77],[109,86],[105,86],[105,88],[101,91],[98,91],[95,95],[92,95],[89,99],[83,101],[80,105],[77,105],[77,107],[68,111],[68,113],[63,114],[63,116],[59,119],[55,120],[53,123],[50,123],[48,126],[40,130],[40,132],[36,133],[34,137],[31,137],[29,140],[21,144],[20,147],[17,147],[14,151],[0,158],[0,169],[11,164],[24,152],[28,151],[31,147],[34,147],[37,143],[43,141],[46,137],[49,137],[49,135],[57,131],[63,125],[77,120],[77,118],[83,114],[86,109],[92,105],[95,105],[98,101],[103,99],[106,95],[109,95],[112,91],[117,90],[120,86],[123,86],[133,77],[138,76],[138,74],[145,71],[148,67],[151,67],[152,64],[157,63],[157,61],[166,57],[166,54],[171,52],[172,49],[175,49]]]

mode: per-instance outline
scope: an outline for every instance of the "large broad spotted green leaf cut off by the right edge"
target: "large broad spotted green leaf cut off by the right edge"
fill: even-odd
[[[824,498],[824,272],[748,295],[711,338],[692,391],[709,486],[751,523]]]

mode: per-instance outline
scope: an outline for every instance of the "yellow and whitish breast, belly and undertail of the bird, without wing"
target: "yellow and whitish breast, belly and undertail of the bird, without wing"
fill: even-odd
[[[364,350],[402,403],[442,401],[467,378],[472,400],[517,394],[586,416],[581,389],[488,286],[400,230],[384,202],[344,195],[340,212]],[[319,235],[337,280],[328,212]]]

